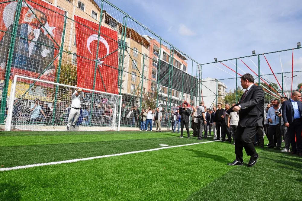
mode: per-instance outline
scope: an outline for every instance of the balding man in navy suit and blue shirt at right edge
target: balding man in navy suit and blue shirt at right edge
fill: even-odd
[[[283,102],[282,116],[284,125],[288,127],[287,133],[291,142],[291,154],[302,156],[302,103],[300,97],[301,94],[294,91],[291,98]]]

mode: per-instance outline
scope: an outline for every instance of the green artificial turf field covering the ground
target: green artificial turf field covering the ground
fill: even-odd
[[[198,142],[172,132],[2,131],[0,168]],[[226,165],[234,146],[209,142],[0,171],[0,200],[302,200],[302,158],[257,152],[252,168]]]

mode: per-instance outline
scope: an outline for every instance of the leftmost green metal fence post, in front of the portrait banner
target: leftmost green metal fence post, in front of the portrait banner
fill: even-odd
[[[13,26],[13,30],[11,33],[11,41],[10,41],[11,43],[9,45],[5,78],[4,78],[3,89],[2,89],[2,99],[1,99],[2,101],[1,101],[1,111],[0,111],[1,112],[1,114],[0,114],[1,123],[4,123],[4,120],[5,120],[6,100],[7,100],[7,93],[8,93],[9,77],[11,74],[11,62],[13,59],[13,53],[14,53],[19,19],[20,19],[20,15],[21,15],[22,3],[23,3],[22,0],[18,0],[16,12],[15,12],[14,26]]]

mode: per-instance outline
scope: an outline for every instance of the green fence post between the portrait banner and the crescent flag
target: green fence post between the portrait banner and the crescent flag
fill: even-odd
[[[62,34],[62,41],[61,41],[60,57],[59,57],[58,73],[57,73],[56,83],[59,83],[59,81],[60,81],[62,56],[63,56],[63,46],[64,46],[64,39],[65,39],[66,21],[67,21],[67,16],[66,16],[66,12],[65,12],[64,13],[64,27],[63,27],[63,34]],[[56,113],[56,103],[57,103],[58,92],[59,92],[59,86],[56,85],[56,92],[55,92],[55,97],[54,97],[55,100],[53,101],[53,114]],[[53,115],[52,125],[55,122],[55,118],[56,118],[56,116]]]

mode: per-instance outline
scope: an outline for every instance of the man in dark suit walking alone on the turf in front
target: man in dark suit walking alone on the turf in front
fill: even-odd
[[[236,130],[235,154],[236,159],[228,165],[243,165],[243,148],[246,154],[251,156],[248,166],[256,164],[259,155],[253,145],[254,138],[259,127],[264,127],[264,91],[260,86],[254,84],[254,78],[247,73],[241,77],[241,86],[246,89],[239,103],[226,111],[230,114],[239,111],[239,122]]]

